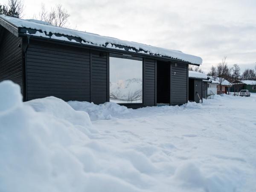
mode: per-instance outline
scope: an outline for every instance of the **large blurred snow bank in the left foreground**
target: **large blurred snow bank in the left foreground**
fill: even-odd
[[[95,171],[99,149],[89,147],[87,113],[52,97],[24,105],[20,87],[11,81],[1,82],[0,90],[1,192],[141,191],[102,169]]]

